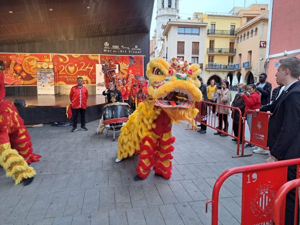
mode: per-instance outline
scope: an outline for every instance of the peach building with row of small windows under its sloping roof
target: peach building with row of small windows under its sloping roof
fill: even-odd
[[[236,30],[236,57],[234,74],[239,82],[258,82],[265,72],[265,50],[268,11],[252,18]]]

